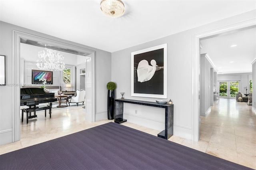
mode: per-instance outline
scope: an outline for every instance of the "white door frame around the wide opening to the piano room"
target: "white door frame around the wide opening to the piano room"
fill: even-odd
[[[12,129],[14,132],[12,133],[12,142],[16,142],[20,140],[20,40],[21,38],[27,39],[27,40],[33,40],[37,42],[42,42],[46,44],[51,44],[51,45],[56,45],[58,47],[62,48],[67,48],[67,49],[72,49],[74,51],[80,51],[83,53],[90,54],[90,67],[91,67],[91,91],[90,97],[91,102],[89,103],[90,105],[86,105],[86,108],[88,109],[89,112],[91,113],[88,114],[87,120],[94,122],[95,121],[95,63],[94,63],[94,58],[95,58],[95,51],[78,47],[75,45],[70,45],[67,43],[62,43],[54,40],[50,40],[47,38],[42,38],[39,36],[34,36],[32,34],[27,34],[24,32],[12,31],[12,82],[14,82],[14,86],[12,86]],[[87,110],[86,110],[87,111]]]

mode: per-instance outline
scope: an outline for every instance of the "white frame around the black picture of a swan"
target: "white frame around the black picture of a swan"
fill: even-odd
[[[164,94],[163,95],[155,95],[155,94],[134,93],[134,55],[140,54],[140,53],[146,53],[149,51],[154,51],[156,49],[162,49],[162,48],[164,49]],[[131,96],[167,99],[167,87],[168,87],[167,86],[167,73],[168,73],[167,63],[168,63],[168,61],[167,61],[167,43],[132,52],[131,53]]]

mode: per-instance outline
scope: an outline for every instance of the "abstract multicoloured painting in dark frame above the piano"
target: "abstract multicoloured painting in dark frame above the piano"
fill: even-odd
[[[47,84],[52,84],[52,71],[32,70],[32,84],[41,84],[44,79]]]

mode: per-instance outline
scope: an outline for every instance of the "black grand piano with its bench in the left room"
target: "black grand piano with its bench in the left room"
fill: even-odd
[[[36,111],[44,110],[44,115],[46,117],[46,110],[49,109],[49,114],[51,118],[52,114],[52,102],[57,101],[54,97],[54,93],[46,93],[42,88],[21,88],[20,89],[20,106],[28,106],[26,109],[22,109],[22,122],[24,112],[27,114],[27,124],[28,119],[37,117]],[[50,103],[47,106],[39,107],[40,103]],[[31,115],[34,112],[34,115]]]

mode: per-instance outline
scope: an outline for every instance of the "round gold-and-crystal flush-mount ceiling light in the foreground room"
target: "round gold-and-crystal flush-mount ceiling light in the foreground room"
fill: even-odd
[[[124,14],[124,3],[121,0],[102,0],[100,9],[106,16],[117,18]]]

